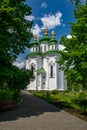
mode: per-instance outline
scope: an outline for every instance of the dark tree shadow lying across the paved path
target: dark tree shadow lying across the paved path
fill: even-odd
[[[5,111],[0,113],[0,122],[13,121],[19,118],[25,118],[30,116],[39,116],[45,112],[59,112],[57,107],[28,94],[23,91],[23,102],[15,110]]]

